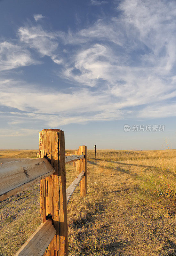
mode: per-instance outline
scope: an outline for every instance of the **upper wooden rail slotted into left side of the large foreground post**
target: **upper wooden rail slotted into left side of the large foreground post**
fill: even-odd
[[[0,164],[0,201],[55,172],[46,158]]]

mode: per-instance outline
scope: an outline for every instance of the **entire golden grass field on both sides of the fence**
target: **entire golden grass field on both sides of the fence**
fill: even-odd
[[[93,159],[88,150],[87,197],[76,189],[68,204],[69,255],[175,256],[176,150],[97,150]],[[67,187],[76,176],[66,165]],[[13,255],[40,225],[39,208],[38,183],[0,203],[0,256]]]

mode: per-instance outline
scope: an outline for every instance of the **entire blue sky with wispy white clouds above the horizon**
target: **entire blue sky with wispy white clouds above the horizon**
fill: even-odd
[[[175,21],[175,1],[1,0],[0,148],[44,128],[66,148],[176,148]]]

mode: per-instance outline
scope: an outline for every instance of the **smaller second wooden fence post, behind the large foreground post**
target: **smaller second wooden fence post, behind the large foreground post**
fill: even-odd
[[[86,146],[80,146],[78,149],[79,155],[84,155],[84,159],[78,160],[78,169],[80,172],[85,172],[84,177],[80,182],[80,196],[86,196],[87,195],[87,147]]]

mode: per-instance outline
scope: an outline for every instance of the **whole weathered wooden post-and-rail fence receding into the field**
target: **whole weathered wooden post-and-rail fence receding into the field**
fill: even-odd
[[[15,256],[68,256],[67,204],[80,184],[87,194],[87,147],[65,156],[64,132],[44,129],[39,133],[39,157],[0,165],[0,200],[40,180],[41,226]],[[20,159],[19,159],[20,160]],[[65,165],[76,162],[79,175],[66,190]]]

